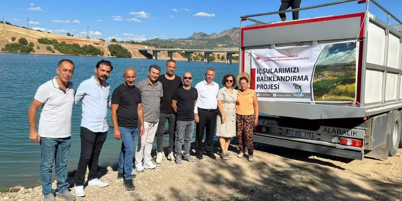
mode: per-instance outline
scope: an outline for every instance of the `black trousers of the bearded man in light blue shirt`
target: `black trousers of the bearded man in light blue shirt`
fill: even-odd
[[[76,172],[76,186],[82,186],[85,182],[86,167],[88,166],[88,180],[96,178],[100,150],[106,141],[106,132],[92,132],[86,127],[81,127],[81,155]]]

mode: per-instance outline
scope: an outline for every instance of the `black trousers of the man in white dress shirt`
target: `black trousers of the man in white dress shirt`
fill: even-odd
[[[216,127],[216,109],[205,110],[198,108],[199,122],[196,123],[195,129],[195,153],[201,154],[203,151],[208,154],[213,153],[213,133]],[[205,131],[205,150],[202,149],[202,140]]]

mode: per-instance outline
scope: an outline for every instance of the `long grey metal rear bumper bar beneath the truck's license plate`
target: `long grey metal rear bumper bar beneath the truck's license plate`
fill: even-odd
[[[291,139],[269,136],[266,134],[259,134],[254,132],[254,142],[268,144],[272,146],[286,147],[297,150],[304,150],[308,152],[314,152],[319,154],[325,154],[330,156],[338,156],[343,158],[351,158],[363,160],[364,150],[349,150],[336,148],[334,146],[326,146],[321,144],[313,144],[308,142],[297,142]]]

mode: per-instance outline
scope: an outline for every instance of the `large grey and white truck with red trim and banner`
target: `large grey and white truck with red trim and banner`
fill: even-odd
[[[357,160],[402,148],[402,22],[375,0],[286,12],[344,3],[365,10],[271,23],[256,17],[279,11],[240,17],[238,78],[249,76],[260,112],[254,142]]]

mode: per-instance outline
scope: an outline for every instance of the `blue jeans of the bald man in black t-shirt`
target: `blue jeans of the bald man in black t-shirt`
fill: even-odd
[[[121,150],[118,172],[124,173],[124,180],[133,179],[134,141],[137,135],[136,128],[119,127],[121,134]]]

